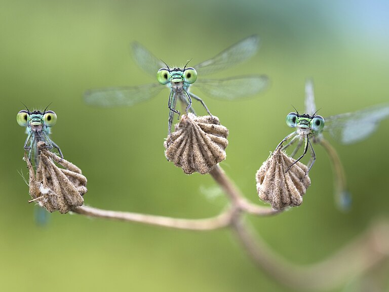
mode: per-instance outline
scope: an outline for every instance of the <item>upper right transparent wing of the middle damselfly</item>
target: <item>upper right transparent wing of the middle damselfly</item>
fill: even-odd
[[[194,66],[199,76],[226,69],[235,64],[241,63],[255,55],[258,50],[259,38],[256,35],[249,36],[239,43],[219,53],[212,59]]]

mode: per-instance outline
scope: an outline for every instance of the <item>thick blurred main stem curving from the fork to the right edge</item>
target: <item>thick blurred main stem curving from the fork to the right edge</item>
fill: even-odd
[[[242,220],[234,221],[232,228],[259,268],[279,283],[299,291],[334,289],[389,258],[387,222],[373,225],[326,260],[306,266],[291,264],[275,254]]]

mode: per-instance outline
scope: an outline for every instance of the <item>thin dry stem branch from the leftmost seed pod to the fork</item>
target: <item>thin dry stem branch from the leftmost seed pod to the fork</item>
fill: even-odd
[[[185,229],[185,230],[214,230],[226,227],[231,221],[231,208],[220,215],[207,219],[179,219],[164,216],[154,216],[131,212],[119,212],[119,211],[108,211],[101,210],[98,208],[80,206],[73,208],[72,212],[86,215],[95,218],[114,219],[127,222],[138,222],[149,225],[156,225],[162,227]]]

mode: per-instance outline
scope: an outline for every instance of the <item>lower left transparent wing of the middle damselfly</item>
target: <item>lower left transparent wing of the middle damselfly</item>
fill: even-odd
[[[102,107],[131,106],[154,97],[163,88],[165,87],[160,84],[146,84],[134,87],[93,89],[84,93],[84,100],[88,104]]]

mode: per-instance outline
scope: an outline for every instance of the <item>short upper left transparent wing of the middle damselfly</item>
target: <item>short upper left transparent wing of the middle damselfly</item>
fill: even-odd
[[[136,64],[151,76],[157,76],[158,70],[166,67],[164,62],[139,43],[134,42],[132,44],[132,53]]]

